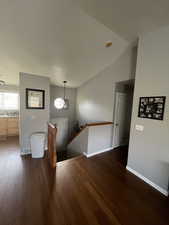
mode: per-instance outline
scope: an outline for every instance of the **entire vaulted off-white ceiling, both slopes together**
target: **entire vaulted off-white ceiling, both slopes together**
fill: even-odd
[[[27,72],[77,87],[167,24],[168,0],[0,0],[0,79],[18,85]]]

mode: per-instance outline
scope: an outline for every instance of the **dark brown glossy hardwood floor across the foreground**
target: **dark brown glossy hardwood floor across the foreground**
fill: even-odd
[[[168,225],[169,201],[126,171],[120,152],[78,157],[51,170],[0,142],[0,225]]]

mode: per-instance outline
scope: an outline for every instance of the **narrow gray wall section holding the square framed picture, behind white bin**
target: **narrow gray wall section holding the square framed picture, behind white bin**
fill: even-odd
[[[45,90],[45,109],[26,109],[26,88]],[[50,107],[49,78],[20,73],[20,145],[21,153],[30,152],[30,135],[46,131]]]

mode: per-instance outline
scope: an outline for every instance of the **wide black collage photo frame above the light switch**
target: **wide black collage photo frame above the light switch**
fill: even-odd
[[[140,97],[138,117],[163,120],[165,102],[166,96]]]

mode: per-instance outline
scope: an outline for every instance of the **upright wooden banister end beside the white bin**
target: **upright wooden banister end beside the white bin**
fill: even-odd
[[[57,128],[55,125],[48,124],[48,154],[49,163],[51,168],[56,167],[57,155],[56,155],[56,134]]]

